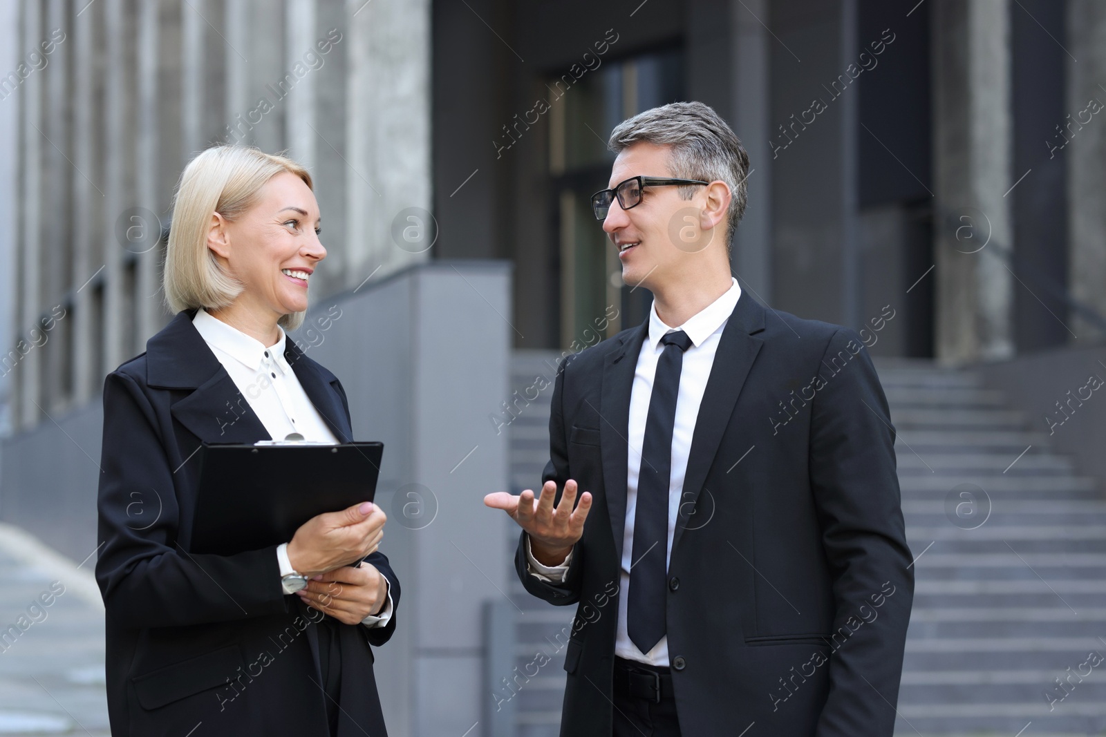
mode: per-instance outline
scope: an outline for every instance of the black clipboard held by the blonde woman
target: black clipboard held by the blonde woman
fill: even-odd
[[[222,556],[292,539],[324,512],[372,502],[384,443],[205,443],[192,552]]]

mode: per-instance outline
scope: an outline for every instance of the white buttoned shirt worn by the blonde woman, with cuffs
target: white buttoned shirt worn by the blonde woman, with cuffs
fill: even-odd
[[[196,312],[192,326],[227,369],[241,397],[246,399],[273,440],[283,440],[295,432],[303,435],[306,441],[337,444],[338,439],[311,403],[295,371],[284,359],[286,336],[283,328],[276,327],[280,330],[280,339],[265,347],[260,340],[213,317],[202,308]],[[295,572],[288,558],[286,543],[276,548],[276,562],[282,577]],[[384,627],[389,619],[392,619],[390,590],[384,610],[375,617],[369,614],[362,622],[368,627]]]

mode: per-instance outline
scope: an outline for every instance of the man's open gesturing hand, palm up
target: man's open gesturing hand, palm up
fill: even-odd
[[[552,481],[542,486],[542,495],[534,498],[532,489],[525,489],[519,496],[507,492],[495,492],[484,497],[484,504],[494,509],[502,509],[519,523],[519,527],[530,535],[530,550],[534,558],[544,566],[559,566],[565,556],[572,551],[584,535],[584,520],[587,510],[592,508],[592,494],[580,495],[580,506],[576,503],[576,482],[570,478],[564,484],[561,502],[553,506],[556,495],[556,484]]]

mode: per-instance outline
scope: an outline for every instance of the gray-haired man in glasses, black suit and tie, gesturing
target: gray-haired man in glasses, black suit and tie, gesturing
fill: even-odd
[[[914,580],[867,351],[731,276],[749,159],[714,110],[611,147],[593,206],[649,319],[562,365],[540,498],[486,497],[526,590],[578,604],[561,734],[890,737]]]

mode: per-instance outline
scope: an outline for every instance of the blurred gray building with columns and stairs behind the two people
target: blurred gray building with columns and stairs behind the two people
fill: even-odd
[[[42,0],[0,40],[0,519],[95,550],[100,391],[170,318],[180,171],[286,150],[323,211],[313,299],[348,315],[298,335],[388,445],[389,729],[555,734],[563,674],[514,668],[571,612],[512,582],[480,497],[539,482],[559,357],[648,313],[588,204],[612,127],[698,99],[751,158],[742,288],[876,338],[936,561],[900,727],[1106,730],[1100,683],[1047,699],[1106,649],[1106,4]],[[964,484],[990,526],[946,510]]]

